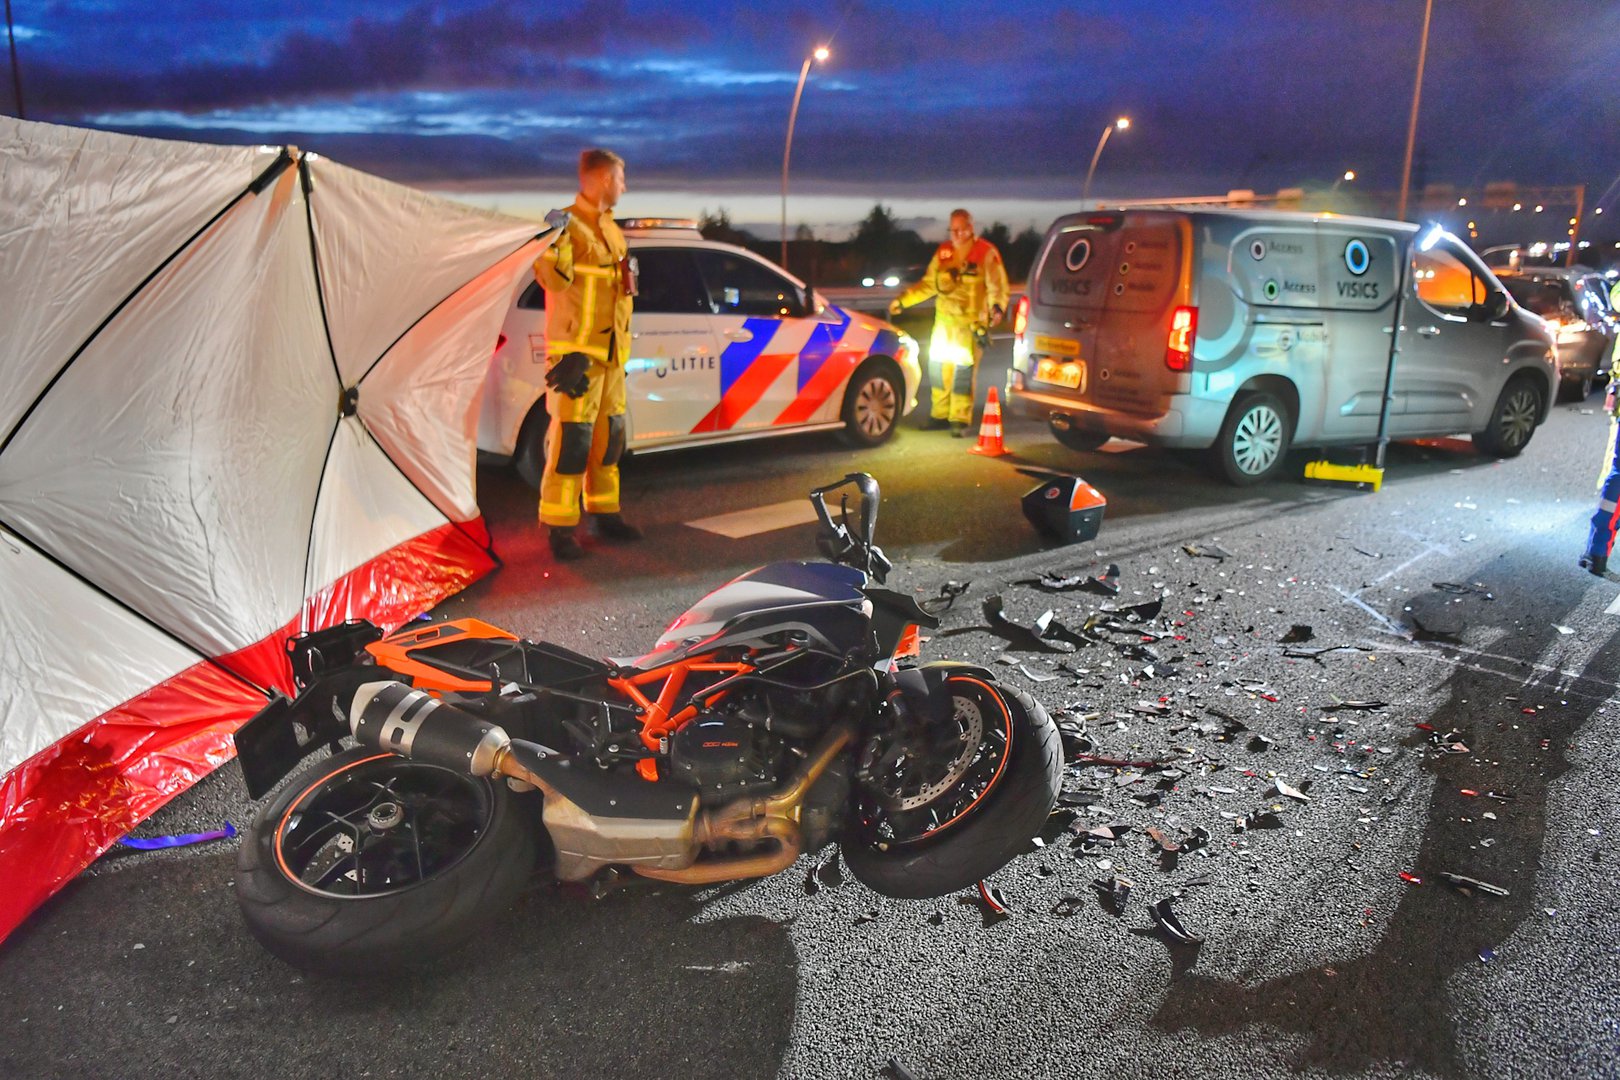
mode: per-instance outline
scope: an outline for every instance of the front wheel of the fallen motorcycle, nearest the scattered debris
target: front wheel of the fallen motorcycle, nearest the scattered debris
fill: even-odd
[[[883,895],[974,886],[1029,850],[1058,801],[1063,748],[1034,698],[970,674],[943,688],[949,717],[936,717],[933,745],[857,795],[842,844],[850,873]]]

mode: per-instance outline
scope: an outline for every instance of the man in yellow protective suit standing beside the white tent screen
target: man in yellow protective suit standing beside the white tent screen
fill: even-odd
[[[619,512],[624,369],[635,296],[635,261],[612,220],[624,189],[622,157],[603,149],[580,154],[580,193],[569,209],[567,228],[535,261],[535,277],[546,290],[551,416],[539,520],[557,559],[585,554],[575,536],[582,494],[603,538],[642,539],[642,531]]]

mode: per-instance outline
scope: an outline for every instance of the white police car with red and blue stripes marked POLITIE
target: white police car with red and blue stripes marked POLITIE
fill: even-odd
[[[917,403],[917,342],[826,303],[697,222],[625,219],[640,267],[630,321],[629,447],[671,450],[805,431],[872,447]],[[546,440],[546,293],[518,285],[484,382],[481,457],[539,484]]]

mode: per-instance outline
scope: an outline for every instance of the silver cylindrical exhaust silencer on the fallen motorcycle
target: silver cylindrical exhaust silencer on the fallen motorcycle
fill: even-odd
[[[364,746],[473,776],[492,774],[512,745],[497,724],[399,682],[363,683],[348,706],[348,730]]]

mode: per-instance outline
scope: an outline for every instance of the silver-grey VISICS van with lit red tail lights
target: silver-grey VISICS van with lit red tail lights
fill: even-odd
[[[1210,449],[1256,484],[1291,445],[1377,437],[1398,279],[1390,436],[1468,432],[1516,455],[1558,385],[1547,325],[1455,236],[1330,214],[1058,219],[1014,313],[1009,408],[1074,450]]]

